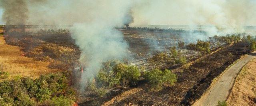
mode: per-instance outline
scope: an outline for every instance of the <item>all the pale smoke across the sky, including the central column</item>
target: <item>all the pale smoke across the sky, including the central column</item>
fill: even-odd
[[[194,30],[204,25],[212,26],[205,28],[211,36],[244,32],[244,26],[256,24],[255,4],[255,0],[0,0],[6,24],[72,25],[72,38],[82,50],[80,62],[86,67],[82,86],[102,62],[127,56],[128,45],[116,27],[169,24]]]

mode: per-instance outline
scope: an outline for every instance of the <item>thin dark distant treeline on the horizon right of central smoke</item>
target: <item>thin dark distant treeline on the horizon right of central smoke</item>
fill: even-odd
[[[127,29],[127,30],[144,30],[144,31],[160,31],[160,32],[193,32],[193,33],[204,33],[203,30],[182,30],[182,29],[174,29],[174,28],[168,28],[168,29],[161,29],[161,28],[148,28],[148,27],[128,27],[128,28],[120,28],[120,29]]]

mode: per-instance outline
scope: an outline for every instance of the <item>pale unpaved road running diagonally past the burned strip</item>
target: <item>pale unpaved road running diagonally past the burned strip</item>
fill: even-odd
[[[255,57],[255,52],[251,53],[228,68],[193,106],[216,106],[218,101],[226,100],[234,84],[234,80],[242,67]]]

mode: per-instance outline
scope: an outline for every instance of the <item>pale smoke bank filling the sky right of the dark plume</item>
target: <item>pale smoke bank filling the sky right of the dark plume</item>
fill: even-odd
[[[132,9],[132,26],[210,25],[219,32],[242,32],[243,26],[256,24],[255,4],[255,0],[142,0]]]

